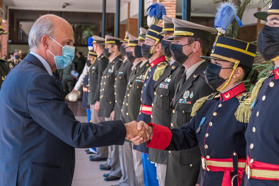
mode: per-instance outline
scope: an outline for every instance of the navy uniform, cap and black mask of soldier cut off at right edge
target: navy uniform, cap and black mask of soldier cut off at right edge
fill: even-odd
[[[256,12],[254,16],[266,20],[270,14],[279,14],[279,1],[272,0],[267,12]],[[266,61],[278,60],[278,44],[278,27],[265,25],[259,34],[258,49]],[[247,161],[242,181],[245,186],[279,185],[277,67],[256,83],[250,100],[243,103],[243,107],[249,111],[252,109],[244,117],[246,122],[249,121],[245,133]]]

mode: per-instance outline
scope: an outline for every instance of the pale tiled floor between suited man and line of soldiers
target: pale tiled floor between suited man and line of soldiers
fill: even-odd
[[[81,101],[67,103],[77,120],[87,122],[86,110],[81,109]],[[89,161],[89,155],[85,153],[84,149],[76,149],[76,166],[72,186],[116,185],[118,181],[104,181],[103,174],[109,171],[101,171],[99,164],[105,163],[106,161]]]

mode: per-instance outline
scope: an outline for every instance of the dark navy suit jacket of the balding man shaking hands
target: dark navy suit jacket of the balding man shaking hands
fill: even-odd
[[[71,186],[74,147],[124,143],[120,120],[77,121],[55,79],[32,54],[5,79],[0,105],[1,186]]]

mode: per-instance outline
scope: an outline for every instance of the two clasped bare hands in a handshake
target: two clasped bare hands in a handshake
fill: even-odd
[[[144,121],[131,121],[125,124],[126,138],[135,145],[149,141],[153,137],[153,127],[148,126]]]

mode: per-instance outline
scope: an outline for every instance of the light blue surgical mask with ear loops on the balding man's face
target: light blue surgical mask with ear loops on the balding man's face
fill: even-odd
[[[48,36],[50,37],[50,36]],[[53,38],[50,37],[50,39],[52,39],[53,41],[55,41],[57,43],[56,40],[54,40]],[[57,43],[58,45],[60,45],[59,43]],[[51,53],[49,50],[49,53],[51,53],[54,57],[54,61],[56,64],[56,68],[60,69],[60,68],[65,68],[66,66],[69,66],[74,57],[75,57],[75,47],[74,46],[70,46],[70,45],[65,45],[62,46],[62,56],[55,56],[53,53]]]

